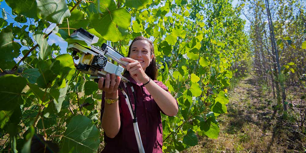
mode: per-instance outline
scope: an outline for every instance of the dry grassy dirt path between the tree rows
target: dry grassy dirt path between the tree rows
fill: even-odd
[[[228,95],[228,113],[218,118],[218,139],[199,137],[199,144],[184,152],[305,152],[305,135],[281,116],[272,91],[252,76]]]

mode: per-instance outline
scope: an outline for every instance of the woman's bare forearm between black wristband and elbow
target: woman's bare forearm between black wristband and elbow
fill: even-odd
[[[177,102],[169,92],[159,87],[153,80],[146,84],[145,87],[154,98],[156,104],[166,115],[174,116],[177,114]]]

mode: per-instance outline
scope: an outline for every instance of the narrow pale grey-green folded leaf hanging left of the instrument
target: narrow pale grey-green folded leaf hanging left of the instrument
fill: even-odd
[[[36,32],[33,37],[39,45],[39,58],[42,60],[46,60],[51,54],[51,48],[49,47],[47,39],[44,38],[44,34],[41,31]]]

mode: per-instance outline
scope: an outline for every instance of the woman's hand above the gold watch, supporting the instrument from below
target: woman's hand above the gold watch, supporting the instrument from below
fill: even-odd
[[[118,97],[118,86],[120,80],[120,76],[109,73],[106,74],[105,79],[103,77],[99,79],[98,87],[100,90],[105,91],[105,98],[116,99]]]

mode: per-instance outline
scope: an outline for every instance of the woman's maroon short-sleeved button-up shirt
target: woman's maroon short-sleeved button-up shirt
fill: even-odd
[[[138,121],[138,127],[140,131],[140,136],[142,144],[144,146],[144,151],[146,153],[151,152],[162,152],[162,120],[161,120],[161,109],[155,103],[153,97],[147,91],[143,84],[137,84],[132,77],[127,76],[131,81],[132,86],[135,90],[135,98],[137,102],[137,112],[136,117]],[[168,88],[160,81],[153,80],[162,89],[168,91]],[[122,88],[124,85],[120,84]],[[134,106],[134,96],[129,88],[129,96],[132,101],[133,110]],[[125,93],[126,89],[124,88]],[[168,91],[169,92],[169,91]],[[119,96],[119,113],[121,126],[118,134],[114,138],[109,138],[104,133],[105,147],[101,153],[106,152],[139,152],[136,142],[136,137],[133,128],[132,116],[130,114],[127,103],[125,102],[125,97],[121,91],[118,91]],[[105,93],[102,94],[102,104],[101,104],[101,114],[104,112],[104,101]],[[162,112],[163,113],[163,112]]]

